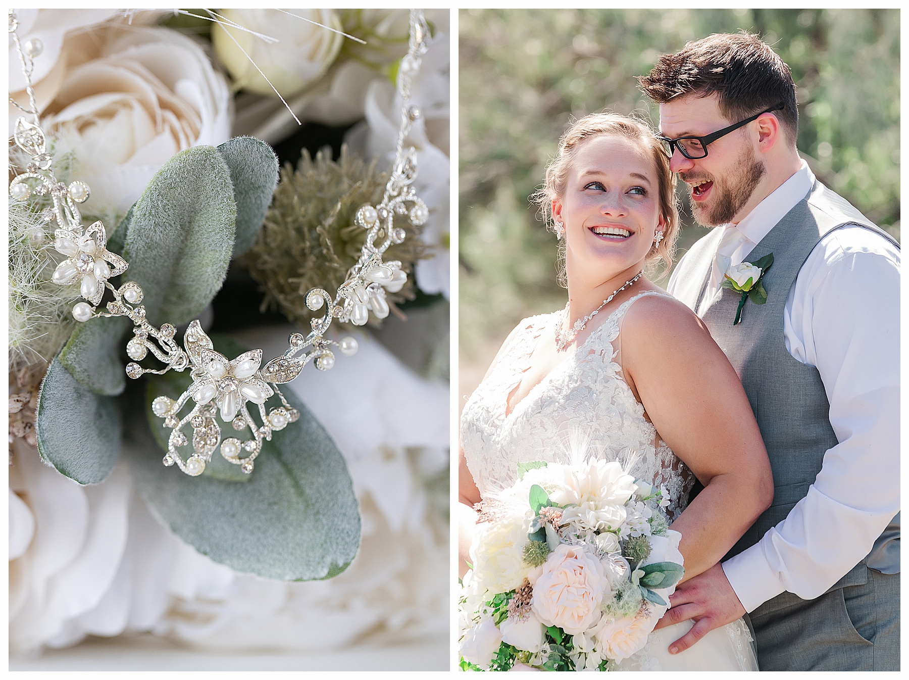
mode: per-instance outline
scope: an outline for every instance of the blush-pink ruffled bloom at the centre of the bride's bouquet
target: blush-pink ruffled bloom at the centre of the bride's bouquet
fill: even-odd
[[[534,614],[544,625],[556,625],[568,635],[584,633],[597,622],[603,596],[609,592],[600,561],[580,545],[555,548],[531,583]]]

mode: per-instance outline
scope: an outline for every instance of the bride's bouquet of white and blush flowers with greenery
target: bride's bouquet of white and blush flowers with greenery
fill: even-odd
[[[665,487],[617,462],[530,463],[480,505],[460,595],[463,670],[611,670],[684,569]]]

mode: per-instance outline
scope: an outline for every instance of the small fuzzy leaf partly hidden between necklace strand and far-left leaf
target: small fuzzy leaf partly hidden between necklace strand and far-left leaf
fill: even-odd
[[[90,319],[75,327],[57,358],[79,385],[96,395],[119,395],[126,384],[120,353],[131,325],[123,316]]]

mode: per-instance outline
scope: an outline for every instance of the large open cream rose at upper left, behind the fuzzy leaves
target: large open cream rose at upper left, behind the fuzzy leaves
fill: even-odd
[[[44,124],[58,155],[75,154],[69,179],[91,189],[85,214],[125,213],[172,155],[230,137],[224,76],[177,31],[103,25],[69,35],[56,68],[63,80]]]

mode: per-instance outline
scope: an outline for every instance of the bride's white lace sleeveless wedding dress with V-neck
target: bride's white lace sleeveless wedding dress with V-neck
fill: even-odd
[[[665,485],[672,496],[666,510],[673,521],[684,510],[694,475],[656,433],[644,406],[625,383],[619,345],[622,319],[635,295],[557,365],[507,413],[507,400],[527,370],[539,336],[562,320],[562,312],[524,319],[506,341],[492,371],[476,388],[461,416],[461,443],[480,495],[486,497],[517,481],[517,464],[568,463],[570,440],[582,436],[589,450],[628,465],[629,474]],[[619,360],[620,361],[620,360]],[[620,670],[757,670],[751,635],[739,619],[711,631],[693,647],[670,655],[670,643],[692,622],[651,634],[647,645],[625,659]]]

